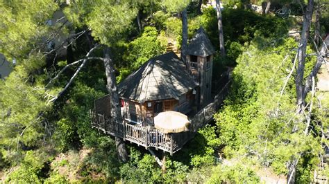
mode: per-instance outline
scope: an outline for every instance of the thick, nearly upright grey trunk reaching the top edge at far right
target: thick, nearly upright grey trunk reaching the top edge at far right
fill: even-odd
[[[301,40],[299,42],[299,47],[297,50],[298,66],[297,66],[297,73],[296,73],[297,75],[295,77],[295,82],[296,82],[298,112],[302,111],[305,104],[305,98],[304,98],[305,95],[303,93],[304,92],[303,78],[304,78],[304,69],[305,69],[306,46],[307,46],[307,40],[310,37],[310,23],[312,19],[313,5],[314,5],[314,0],[309,0],[304,15]]]

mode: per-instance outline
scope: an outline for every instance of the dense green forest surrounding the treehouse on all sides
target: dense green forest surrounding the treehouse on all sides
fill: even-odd
[[[0,181],[260,183],[264,170],[290,183],[310,183],[314,170],[329,177],[328,165],[319,167],[329,93],[314,87],[314,69],[328,64],[328,2],[223,0],[224,43],[207,3],[1,1],[0,53],[16,64],[0,79]],[[202,26],[217,50],[214,80],[234,68],[230,92],[214,122],[164,167],[128,143],[123,162],[117,140],[90,124],[94,100],[110,90],[106,59],[121,82],[151,57],[180,53],[185,11],[188,39]]]

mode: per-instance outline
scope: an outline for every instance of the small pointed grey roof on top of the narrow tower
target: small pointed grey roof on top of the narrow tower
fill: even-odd
[[[202,27],[196,31],[194,37],[189,41],[186,53],[188,55],[199,55],[203,57],[215,53],[214,46],[212,46],[210,39],[207,37]]]

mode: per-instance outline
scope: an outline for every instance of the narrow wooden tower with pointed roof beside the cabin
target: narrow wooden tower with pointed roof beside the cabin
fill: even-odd
[[[211,100],[212,59],[215,53],[210,39],[203,28],[199,28],[191,39],[186,51],[186,66],[194,80],[199,84],[196,102],[199,108]]]

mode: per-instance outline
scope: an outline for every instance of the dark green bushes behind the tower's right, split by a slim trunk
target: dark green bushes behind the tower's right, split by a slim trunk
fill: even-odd
[[[288,31],[286,21],[278,17],[264,17],[241,8],[225,8],[222,14],[226,50],[228,50],[228,57],[233,60],[242,52],[244,43],[248,44],[255,37],[265,37],[267,42],[271,42],[273,39],[284,36]],[[203,15],[199,17],[199,21],[212,44],[218,48],[216,10],[211,7],[203,9]],[[233,46],[230,46],[231,44]]]

